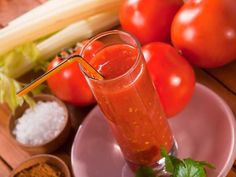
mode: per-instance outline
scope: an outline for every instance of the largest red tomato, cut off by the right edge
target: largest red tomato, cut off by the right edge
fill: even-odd
[[[176,14],[171,38],[192,64],[213,68],[236,59],[236,1],[188,0]]]

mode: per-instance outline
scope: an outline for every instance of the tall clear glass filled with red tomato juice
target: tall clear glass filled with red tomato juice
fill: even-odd
[[[104,45],[89,62],[104,80],[82,71],[125,160],[131,167],[158,164],[160,148],[173,153],[175,143],[139,42],[123,31],[104,32],[87,41],[82,57],[95,41]]]

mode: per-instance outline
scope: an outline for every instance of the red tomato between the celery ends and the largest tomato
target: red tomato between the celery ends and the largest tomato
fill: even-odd
[[[183,0],[126,0],[120,8],[120,23],[141,44],[169,41],[174,15]]]

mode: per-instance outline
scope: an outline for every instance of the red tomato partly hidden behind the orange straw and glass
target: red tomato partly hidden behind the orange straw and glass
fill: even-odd
[[[85,51],[84,57],[86,60],[91,60],[94,53],[103,44],[101,42],[94,42],[92,46]],[[75,53],[79,53],[78,49]],[[63,52],[65,54],[65,52]],[[68,57],[68,56],[66,56]],[[66,58],[65,57],[65,58]],[[56,57],[48,65],[48,70],[56,67],[64,59]],[[90,88],[80,71],[79,65],[76,62],[71,63],[66,68],[62,69],[60,72],[54,74],[48,80],[48,86],[51,91],[60,99],[79,106],[86,106],[95,103]]]

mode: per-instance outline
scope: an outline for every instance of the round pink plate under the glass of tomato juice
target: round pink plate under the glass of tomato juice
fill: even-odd
[[[196,84],[189,105],[169,122],[178,157],[215,164],[208,177],[227,175],[236,157],[236,126],[231,110],[218,95]],[[76,177],[134,177],[97,106],[79,127],[71,159]]]

